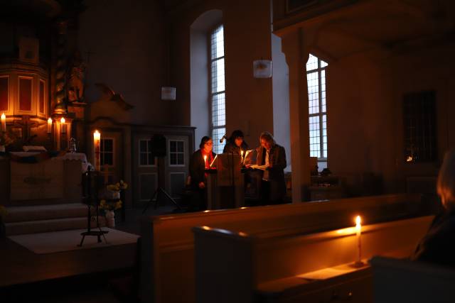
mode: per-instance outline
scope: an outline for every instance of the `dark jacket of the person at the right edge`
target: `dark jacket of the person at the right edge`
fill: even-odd
[[[455,209],[434,218],[411,259],[455,267]]]

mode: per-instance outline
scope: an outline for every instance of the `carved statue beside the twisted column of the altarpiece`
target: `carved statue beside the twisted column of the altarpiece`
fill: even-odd
[[[73,60],[68,72],[68,101],[83,101],[84,99],[84,79],[87,65],[82,61],[79,51],[73,56]]]

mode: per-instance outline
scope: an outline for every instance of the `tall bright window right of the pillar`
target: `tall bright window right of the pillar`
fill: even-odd
[[[326,62],[310,54],[306,62],[310,157],[318,158],[319,167],[327,162],[326,67]]]

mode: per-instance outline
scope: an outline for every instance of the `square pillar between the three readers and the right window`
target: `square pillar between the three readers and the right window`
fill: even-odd
[[[289,126],[291,131],[292,202],[309,201],[309,111],[306,61],[309,50],[297,28],[280,34],[289,67]]]

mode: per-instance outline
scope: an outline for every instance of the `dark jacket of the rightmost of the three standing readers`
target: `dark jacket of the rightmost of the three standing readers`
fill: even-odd
[[[257,165],[265,164],[266,150],[262,146],[257,148]],[[286,168],[286,151],[284,147],[275,144],[269,151],[269,182],[270,200],[281,200],[286,195],[286,182],[284,181],[284,168]],[[263,174],[263,172],[262,172]]]

